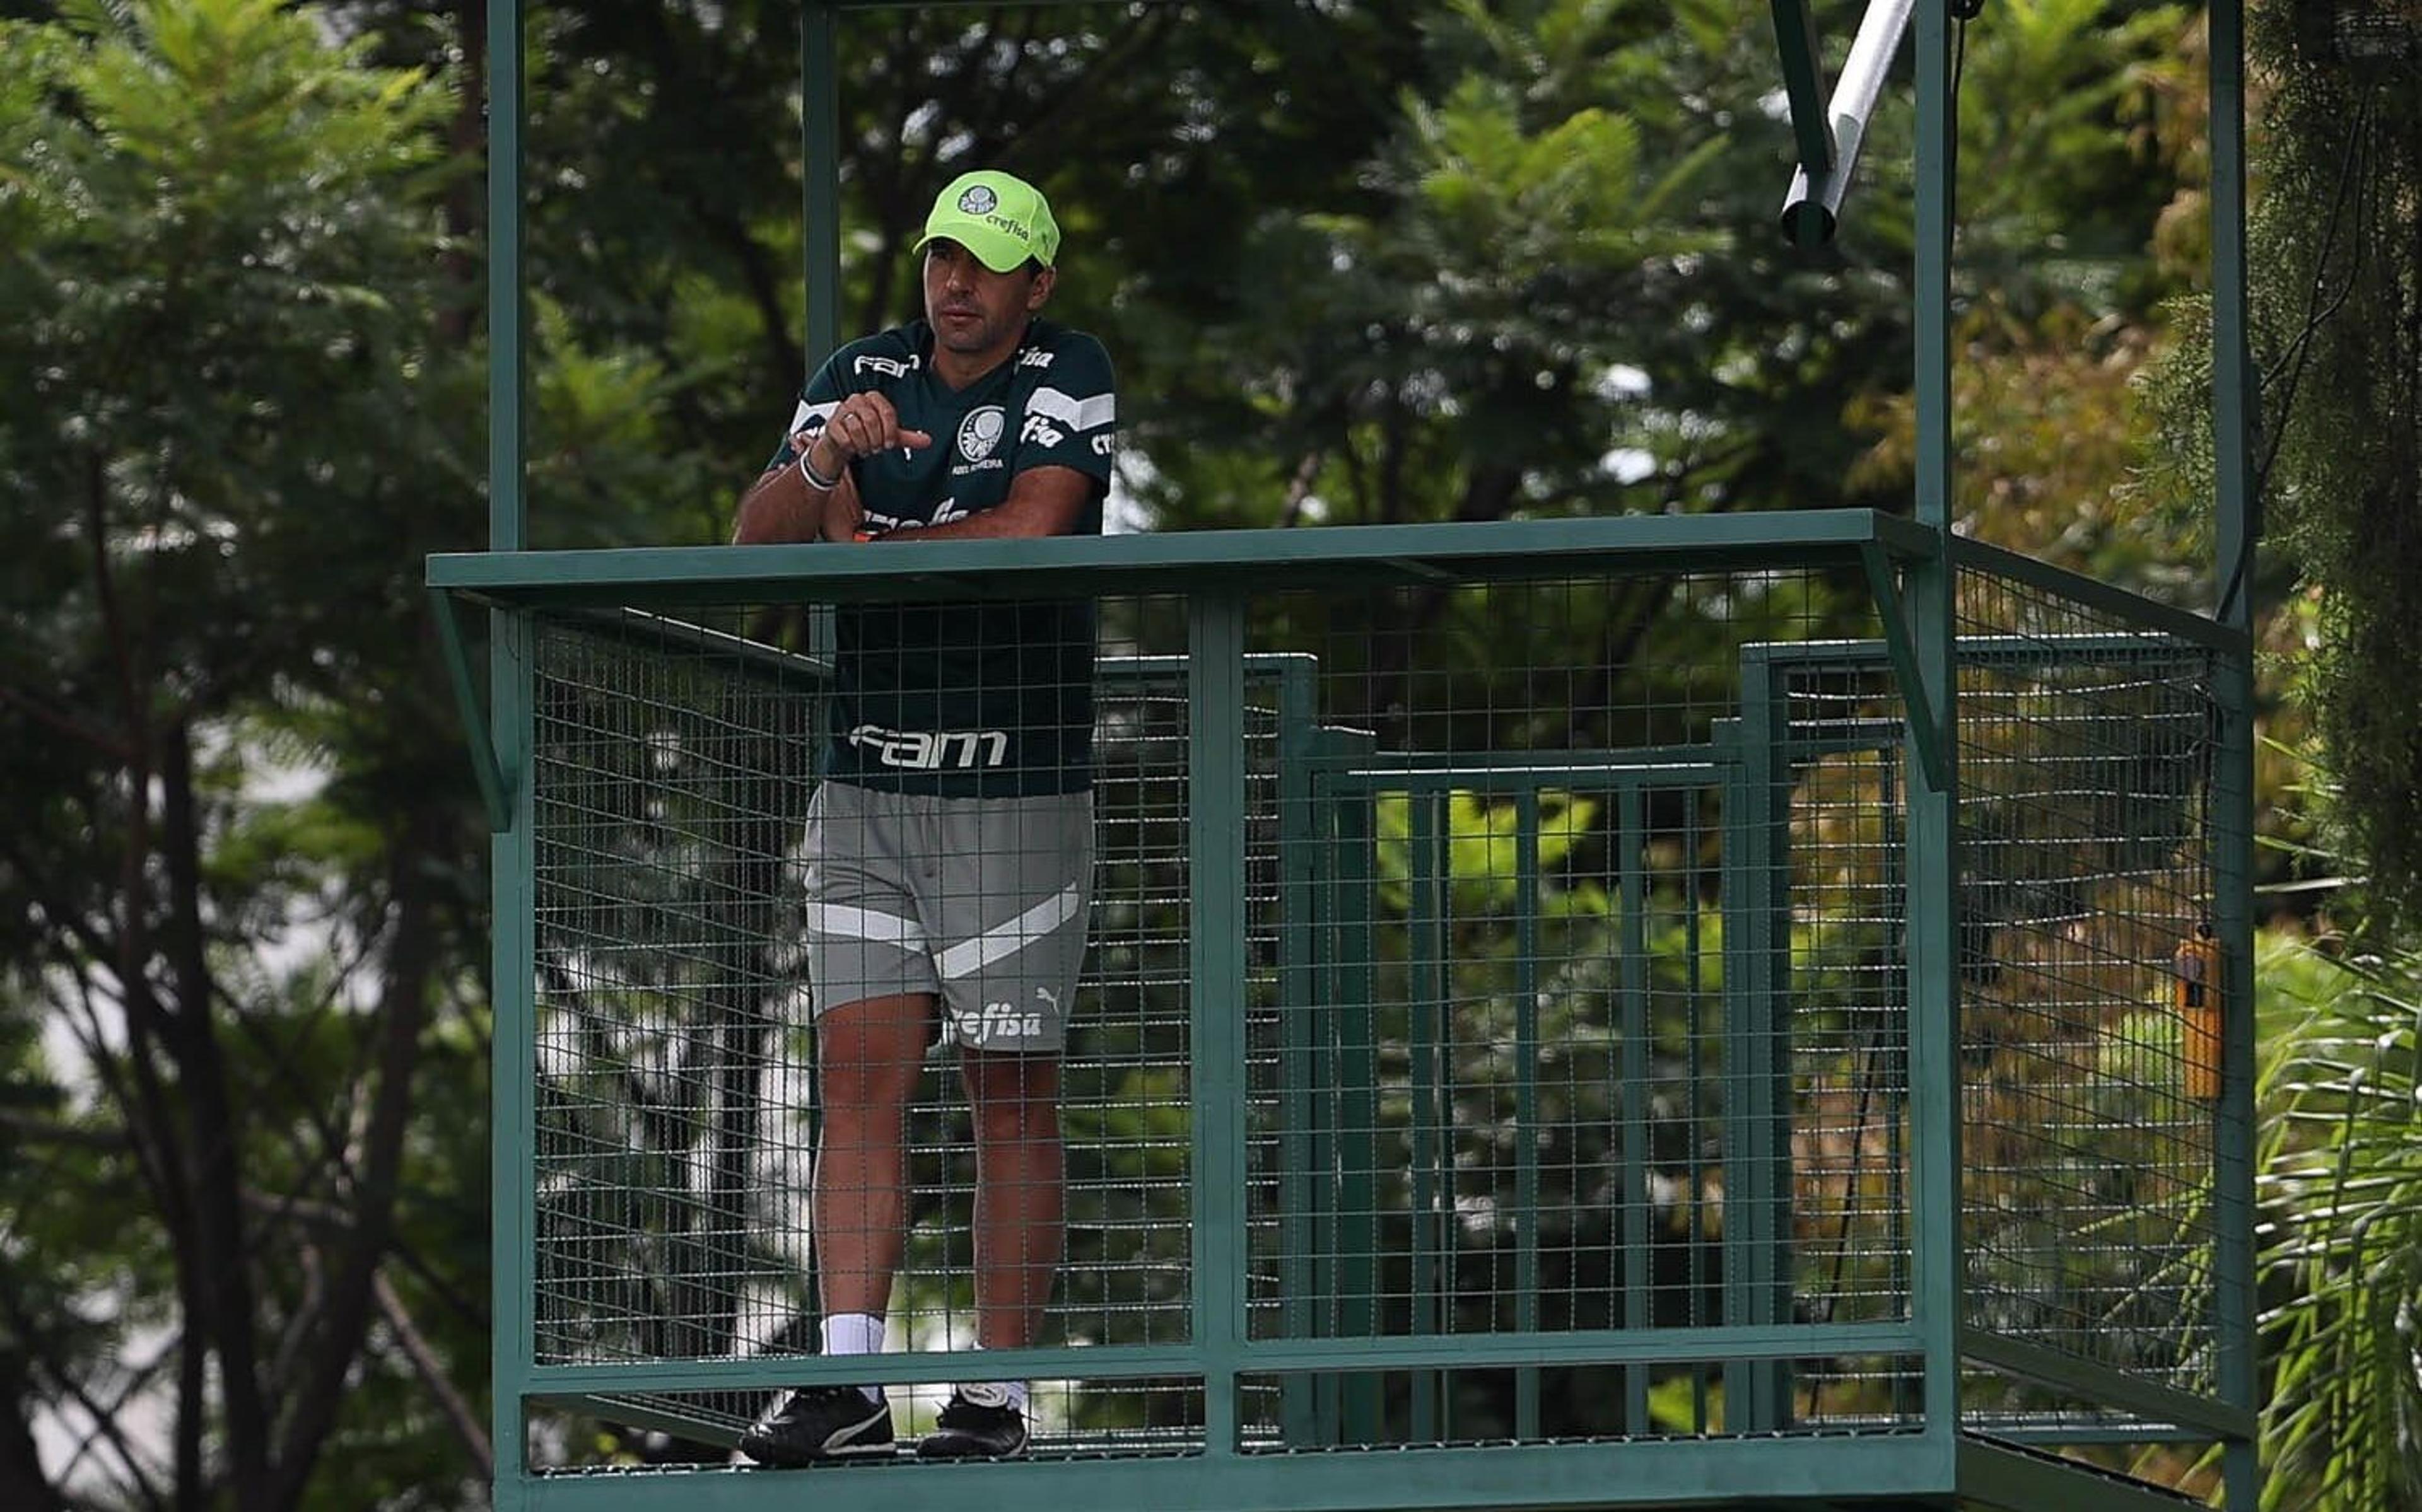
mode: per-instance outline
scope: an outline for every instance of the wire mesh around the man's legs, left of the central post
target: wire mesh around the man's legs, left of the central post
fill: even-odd
[[[1182,645],[1170,603],[1102,611],[1092,909],[1058,1098],[1066,1260],[1046,1345],[1189,1338],[1187,664],[1170,654]],[[831,662],[637,613],[545,618],[535,662],[535,1364],[814,1354],[819,1100],[799,841]],[[1259,710],[1247,744],[1269,739]],[[1259,792],[1267,802],[1267,780]],[[911,1197],[886,1342],[964,1352],[981,1182],[947,1049],[925,1056],[903,1141]],[[901,1427],[930,1420],[940,1391],[894,1391]],[[1153,1381],[1037,1384],[1037,1447],[1199,1442],[1199,1398]],[[765,1396],[591,1405],[729,1442]]]

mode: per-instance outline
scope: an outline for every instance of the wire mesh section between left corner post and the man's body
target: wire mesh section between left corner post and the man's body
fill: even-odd
[[[799,1347],[807,1061],[782,887],[823,678],[613,615],[538,640],[538,1364]]]

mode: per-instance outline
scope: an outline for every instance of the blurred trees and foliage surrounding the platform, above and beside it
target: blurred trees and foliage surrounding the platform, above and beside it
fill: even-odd
[[[2255,10],[2274,1497],[2386,1507],[2422,104]],[[2187,606],[2202,46],[1988,5],[1957,245],[1962,528]],[[1044,182],[1121,528],[1906,509],[1906,82],[1787,250],[1761,7],[932,7],[840,53],[845,327],[913,313],[959,167]],[[484,843],[417,584],[484,543],[487,70],[482,0],[0,5],[0,1505],[484,1500]],[[533,5],[528,80],[530,540],[719,540],[816,356],[797,5]]]

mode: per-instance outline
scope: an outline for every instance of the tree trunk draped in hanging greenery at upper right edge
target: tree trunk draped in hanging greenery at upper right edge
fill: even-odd
[[[2422,928],[2422,99],[2412,63],[2340,58],[2330,7],[2252,7],[2262,97],[2255,317],[2265,511],[2318,586],[2311,691],[2388,930]],[[2383,12],[2398,17],[2407,12]],[[2398,24],[2398,22],[2391,22]],[[2410,17],[2403,22],[2412,27]]]

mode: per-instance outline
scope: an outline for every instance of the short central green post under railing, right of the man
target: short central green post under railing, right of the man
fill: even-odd
[[[1245,603],[1187,603],[1187,1040],[1194,1124],[1194,1345],[1204,1369],[1204,1454],[1235,1459],[1245,1345]]]

